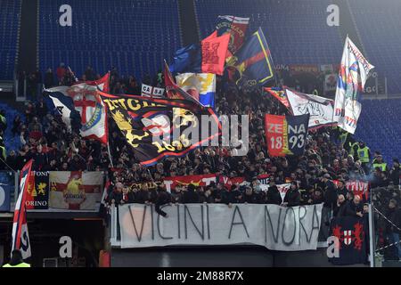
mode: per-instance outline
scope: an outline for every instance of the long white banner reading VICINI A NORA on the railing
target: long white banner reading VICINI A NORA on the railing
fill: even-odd
[[[255,244],[273,250],[316,249],[323,204],[176,204],[119,206],[121,248]]]

